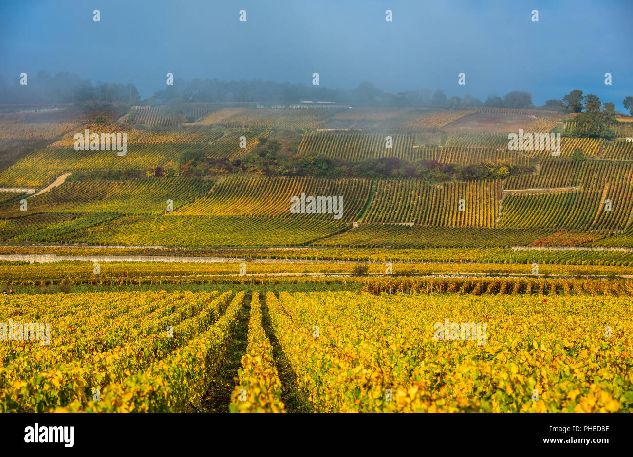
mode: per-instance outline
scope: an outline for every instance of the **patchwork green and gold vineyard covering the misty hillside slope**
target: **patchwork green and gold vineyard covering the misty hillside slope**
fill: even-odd
[[[520,125],[546,133],[562,121],[556,113],[218,103],[171,112],[164,106],[134,107],[121,118],[123,114],[122,108],[0,114],[0,131],[9,137],[30,138],[19,130],[21,125],[39,126],[39,138],[49,136],[53,124],[72,126],[55,131],[59,135],[47,147],[18,157],[0,173],[0,186],[15,191],[0,196],[0,241],[188,248],[633,246],[633,176],[627,162],[633,142],[563,137],[561,155],[553,156],[549,151],[508,150],[507,134],[491,133],[494,129],[460,128],[462,121],[498,118],[502,128]],[[165,124],[172,115],[177,125]],[[568,116],[566,128],[574,122]],[[135,128],[136,123],[144,127]],[[350,131],[323,131],[334,124]],[[455,128],[445,129],[449,124]],[[125,133],[126,154],[75,150],[75,133],[86,129]],[[227,173],[230,167],[258,171],[242,161],[260,138],[277,139],[280,129],[289,135],[281,140],[289,154],[326,155],[341,164],[339,176],[354,176],[354,162],[395,157],[410,162],[407,173],[413,166],[441,169],[439,162],[448,170],[446,176],[473,180],[445,181],[435,171],[425,179],[397,181],[315,178],[301,176],[297,169],[286,169],[289,176]],[[389,148],[385,137],[391,137]],[[582,155],[575,154],[578,149]],[[192,151],[206,156],[207,174],[221,174],[184,178],[202,176],[196,161],[184,168],[184,153],[191,157]],[[230,164],[216,166],[212,159]],[[468,171],[473,165],[489,173]],[[21,190],[37,192],[66,173],[72,173],[70,180],[50,192],[35,196]],[[158,178],[161,174],[173,177]],[[124,180],[114,181],[116,176]],[[333,211],[291,214],[291,197],[302,193],[342,197],[342,219],[334,219]]]

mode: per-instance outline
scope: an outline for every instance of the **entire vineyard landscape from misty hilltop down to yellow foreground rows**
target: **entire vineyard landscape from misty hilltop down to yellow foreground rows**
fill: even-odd
[[[574,119],[0,114],[0,410],[633,411],[633,142]]]

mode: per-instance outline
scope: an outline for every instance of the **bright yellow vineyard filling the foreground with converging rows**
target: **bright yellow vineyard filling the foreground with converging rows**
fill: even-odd
[[[592,283],[584,286],[589,291]],[[288,392],[315,412],[632,410],[627,298],[605,296],[598,305],[585,294],[558,296],[535,308],[538,299],[529,295],[455,293],[3,296],[1,320],[50,327],[38,332],[42,341],[1,346],[0,404],[5,412],[204,407],[246,310],[248,346],[233,374],[232,412],[294,412],[285,405]],[[446,319],[458,323],[456,334],[452,325],[437,331]],[[279,372],[271,337],[296,381]]]

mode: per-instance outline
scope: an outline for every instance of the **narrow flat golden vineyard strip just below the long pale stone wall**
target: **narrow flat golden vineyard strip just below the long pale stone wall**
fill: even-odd
[[[7,286],[20,288],[27,291],[28,288],[61,284],[63,281],[70,286],[89,284],[93,288],[103,286],[140,286],[144,284],[173,284],[185,281],[189,284],[217,283],[218,281],[239,281],[240,279],[289,279],[296,277],[343,278],[343,280],[360,280],[354,273],[356,262],[293,262],[285,261],[249,261],[233,262],[229,259],[215,262],[191,262],[191,261],[167,261],[153,259],[150,262],[139,260],[112,260],[92,257],[87,260],[57,260],[56,262],[35,262],[32,265],[22,266],[16,269],[15,264],[0,264],[0,279]],[[142,259],[142,258],[141,258]],[[494,259],[494,258],[493,258]],[[189,260],[189,259],[185,259]],[[389,259],[391,260],[391,259]],[[498,260],[498,259],[494,259]],[[515,260],[515,259],[512,259]],[[482,276],[496,276],[511,278],[530,278],[539,281],[542,277],[557,275],[558,281],[570,281],[571,277],[608,277],[623,273],[633,273],[633,269],[624,265],[591,265],[590,262],[582,262],[583,265],[552,265],[542,262],[548,260],[548,256],[541,253],[517,256],[516,260],[527,260],[523,263],[479,263],[479,262],[422,262],[408,263],[396,262],[392,264],[391,277],[445,277],[465,276],[473,280],[479,280]],[[532,274],[532,261],[538,260],[539,274]],[[609,259],[610,260],[610,259]],[[94,262],[99,263],[99,272],[94,272]],[[539,263],[540,262],[540,263]],[[593,263],[593,262],[591,262]],[[632,262],[630,266],[633,267]],[[385,279],[384,262],[372,262],[367,265],[367,277]]]

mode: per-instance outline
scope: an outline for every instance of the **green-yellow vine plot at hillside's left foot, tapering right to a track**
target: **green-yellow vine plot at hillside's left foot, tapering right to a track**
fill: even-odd
[[[345,213],[343,213],[345,216]],[[172,247],[294,247],[335,235],[351,224],[313,214],[294,217],[122,216],[113,213],[33,214],[0,226],[6,243]]]

